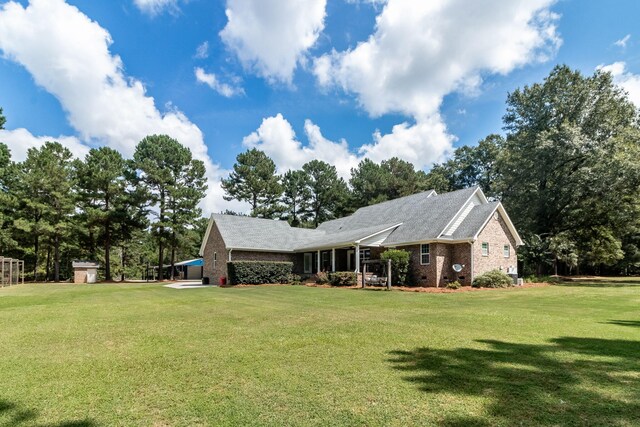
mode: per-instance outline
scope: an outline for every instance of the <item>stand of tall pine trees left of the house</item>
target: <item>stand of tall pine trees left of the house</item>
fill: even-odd
[[[0,143],[0,254],[25,259],[32,280],[69,278],[73,259],[100,261],[106,280],[150,263],[173,271],[197,256],[206,188],[204,163],[166,135],[144,138],[133,159],[108,147],[75,159],[46,142],[13,162]]]

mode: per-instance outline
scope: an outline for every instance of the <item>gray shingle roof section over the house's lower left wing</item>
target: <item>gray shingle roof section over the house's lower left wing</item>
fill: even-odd
[[[227,248],[291,252],[323,231],[289,226],[286,221],[212,214]]]

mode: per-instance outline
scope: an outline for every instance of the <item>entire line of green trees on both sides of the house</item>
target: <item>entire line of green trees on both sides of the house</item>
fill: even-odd
[[[611,75],[557,66],[508,94],[503,126],[503,135],[459,147],[428,172],[391,158],[362,160],[348,180],[320,160],[279,175],[250,149],[221,184],[225,199],[249,204],[249,215],[297,227],[428,189],[479,185],[524,238],[525,272],[638,272],[640,114]],[[74,159],[47,142],[14,162],[0,143],[0,254],[25,259],[34,280],[69,277],[74,258],[101,261],[111,279],[195,257],[206,228],[204,174],[164,135],[144,138],[132,159],[107,147]]]

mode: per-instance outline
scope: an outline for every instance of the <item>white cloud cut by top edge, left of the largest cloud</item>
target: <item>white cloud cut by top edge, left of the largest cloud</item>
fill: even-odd
[[[326,0],[227,0],[220,37],[245,68],[291,83],[324,28],[325,7]]]

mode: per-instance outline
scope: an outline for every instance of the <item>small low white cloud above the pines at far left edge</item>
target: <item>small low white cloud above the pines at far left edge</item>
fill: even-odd
[[[34,136],[24,128],[0,130],[0,142],[7,144],[11,150],[11,159],[16,162],[25,160],[30,148],[40,148],[47,141],[59,142],[67,147],[74,157],[80,159],[84,158],[90,149],[75,136]]]

